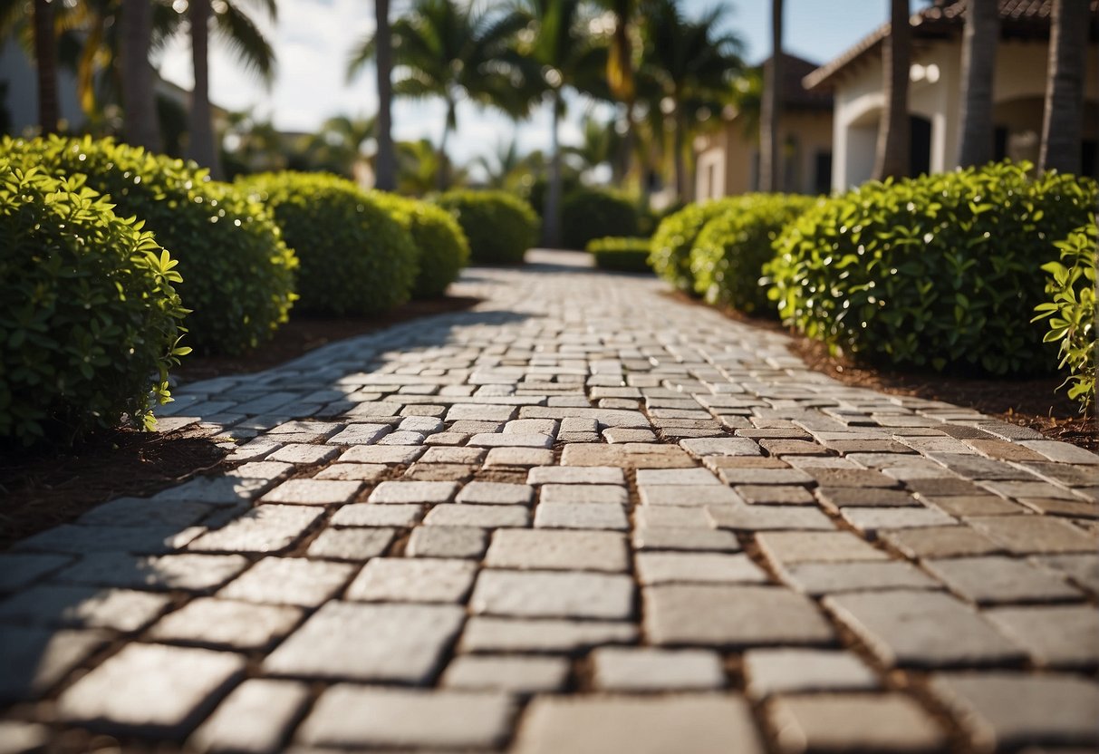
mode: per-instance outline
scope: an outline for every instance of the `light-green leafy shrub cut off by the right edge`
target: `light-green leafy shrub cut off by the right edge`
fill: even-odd
[[[1087,411],[1096,400],[1096,361],[1099,339],[1096,336],[1096,245],[1099,232],[1095,220],[1077,228],[1067,239],[1054,245],[1061,250],[1061,260],[1042,265],[1047,273],[1046,301],[1034,311],[1034,321],[1048,318],[1047,343],[1061,342],[1062,370],[1068,372],[1065,385],[1068,397],[1079,401]],[[1064,385],[1062,385],[1064,387]]]

